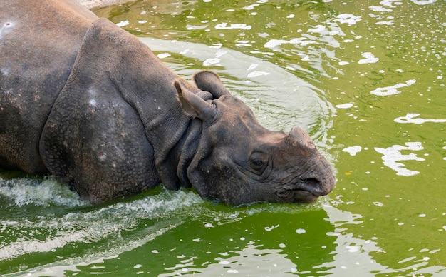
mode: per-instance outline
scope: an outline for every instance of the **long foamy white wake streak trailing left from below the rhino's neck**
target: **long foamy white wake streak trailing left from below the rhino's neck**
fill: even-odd
[[[75,211],[61,217],[50,214],[37,219],[0,221],[0,230],[5,235],[0,243],[0,261],[26,253],[56,251],[72,243],[93,243],[104,238],[117,240],[117,248],[137,247],[141,245],[139,240],[123,241],[120,232],[136,228],[141,219],[187,216],[187,213],[192,213],[187,208],[202,202],[202,198],[192,191],[163,191],[129,203],[115,203],[93,211]],[[164,228],[174,228],[178,223],[166,221],[164,224],[167,226],[155,226],[147,231],[147,236],[153,236]],[[24,230],[30,231],[26,233]],[[20,239],[14,239],[18,234]],[[41,240],[42,234],[44,240]]]

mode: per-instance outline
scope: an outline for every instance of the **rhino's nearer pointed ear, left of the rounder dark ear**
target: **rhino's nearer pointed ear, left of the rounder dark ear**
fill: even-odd
[[[174,85],[178,92],[178,101],[180,101],[185,114],[197,117],[202,121],[212,121],[214,119],[217,114],[217,107],[214,104],[210,104],[197,94],[188,91],[182,87],[179,81],[175,81]]]

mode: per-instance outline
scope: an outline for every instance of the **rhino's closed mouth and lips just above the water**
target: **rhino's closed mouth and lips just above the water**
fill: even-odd
[[[295,184],[281,186],[276,195],[286,202],[312,203],[323,196],[320,182],[314,178],[300,180]]]

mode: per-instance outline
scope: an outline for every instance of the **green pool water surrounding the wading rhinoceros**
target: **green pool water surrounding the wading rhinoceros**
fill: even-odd
[[[90,206],[0,181],[0,274],[446,276],[446,1],[135,1],[95,10],[190,79],[217,71],[336,171],[309,206],[157,188]],[[11,180],[11,178],[13,178]]]

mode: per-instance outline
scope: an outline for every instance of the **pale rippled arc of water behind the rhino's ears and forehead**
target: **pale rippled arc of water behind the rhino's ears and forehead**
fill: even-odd
[[[140,40],[158,53],[157,56],[166,57],[162,61],[187,79],[204,67],[219,73],[225,86],[253,107],[259,121],[267,128],[287,131],[299,125],[309,131],[318,143],[326,143],[333,106],[324,101],[321,91],[315,86],[296,78],[294,74],[219,45],[206,46],[146,37]],[[184,60],[172,60],[175,52],[180,53]],[[184,61],[194,63],[184,66]],[[281,81],[277,84],[275,80]]]

